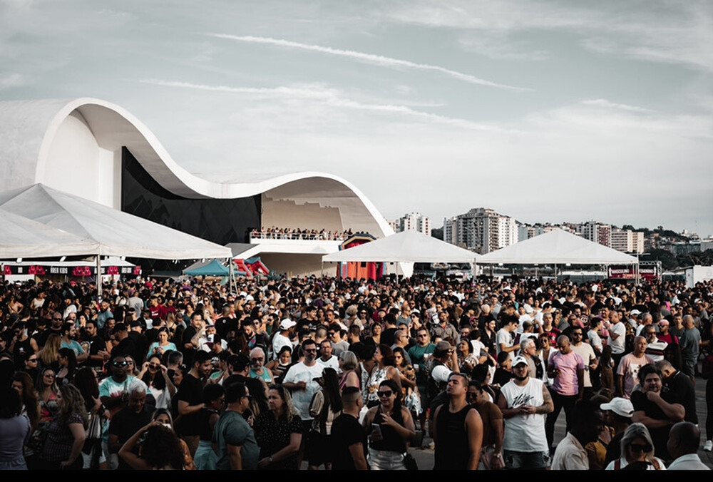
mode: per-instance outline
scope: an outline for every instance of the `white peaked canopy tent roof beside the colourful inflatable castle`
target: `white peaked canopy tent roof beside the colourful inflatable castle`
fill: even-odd
[[[451,262],[474,265],[480,255],[448,242],[406,230],[347,250],[324,255],[325,262]]]

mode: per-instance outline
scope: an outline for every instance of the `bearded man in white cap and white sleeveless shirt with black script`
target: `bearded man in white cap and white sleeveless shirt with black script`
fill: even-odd
[[[553,411],[547,387],[530,378],[528,361],[513,360],[513,378],[501,389],[498,406],[505,419],[503,453],[506,468],[534,469],[550,465],[545,416]]]

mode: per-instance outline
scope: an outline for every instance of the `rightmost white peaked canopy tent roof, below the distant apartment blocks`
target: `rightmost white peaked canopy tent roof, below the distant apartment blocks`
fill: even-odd
[[[478,258],[503,265],[637,265],[639,260],[564,230],[552,230]]]

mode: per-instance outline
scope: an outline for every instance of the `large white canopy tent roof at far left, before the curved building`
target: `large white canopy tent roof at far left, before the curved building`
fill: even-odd
[[[104,255],[191,260],[232,256],[227,247],[42,184],[0,193],[0,210],[14,215],[16,221],[17,217],[24,217],[46,227],[16,222],[12,227],[14,234],[5,232],[3,237],[11,240],[14,236],[21,240],[21,230],[28,231],[32,227],[37,228],[36,237],[25,245],[1,245],[2,257],[96,255],[98,260]],[[61,232],[76,239],[66,237],[65,242],[61,242],[64,239]],[[50,233],[54,237],[49,236]],[[37,243],[37,237],[44,234],[48,235],[46,243]],[[58,244],[52,244],[53,240]],[[80,241],[78,246],[72,242],[76,240]]]

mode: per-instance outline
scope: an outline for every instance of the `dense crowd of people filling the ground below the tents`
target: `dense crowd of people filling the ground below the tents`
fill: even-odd
[[[0,468],[707,468],[713,282],[228,289],[4,283]]]

